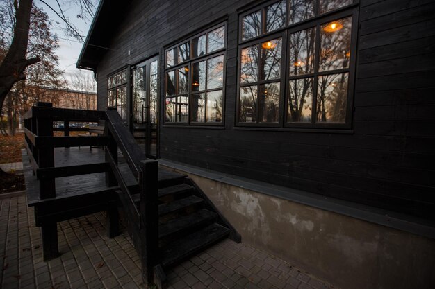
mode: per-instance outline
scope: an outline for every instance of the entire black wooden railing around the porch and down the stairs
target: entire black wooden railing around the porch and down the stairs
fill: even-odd
[[[54,137],[54,121],[65,123],[63,137]],[[70,137],[67,124],[71,121],[104,121],[104,136]],[[154,268],[158,265],[157,161],[145,157],[117,111],[110,108],[106,112],[59,109],[53,108],[51,103],[38,103],[24,115],[24,132],[24,144],[33,173],[40,180],[40,200],[56,198],[56,177],[106,173],[106,186],[115,187],[123,204],[127,228],[142,261],[142,278],[146,284],[153,283]],[[54,148],[97,145],[105,148],[104,163],[63,167],[62,170],[54,165]],[[118,150],[138,182],[138,186],[133,186],[133,191],[126,185],[118,166]],[[140,198],[139,206],[133,199],[135,194]],[[56,221],[42,226],[44,237],[51,240],[43,244],[44,256],[56,256]],[[50,243],[56,243],[56,248]]]

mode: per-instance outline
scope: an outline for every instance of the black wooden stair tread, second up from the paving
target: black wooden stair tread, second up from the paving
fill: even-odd
[[[166,222],[165,224],[162,224],[158,227],[158,237],[164,238],[166,236],[169,236],[170,234],[176,234],[183,229],[202,225],[206,222],[210,222],[211,220],[216,218],[216,216],[216,213],[208,211],[207,209],[202,209],[196,211],[195,213],[191,213],[188,216],[183,216],[174,220],[170,220],[169,222]]]

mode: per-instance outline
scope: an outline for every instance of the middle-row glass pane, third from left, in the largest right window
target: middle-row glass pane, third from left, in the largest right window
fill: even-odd
[[[315,28],[290,34],[290,76],[314,72]]]

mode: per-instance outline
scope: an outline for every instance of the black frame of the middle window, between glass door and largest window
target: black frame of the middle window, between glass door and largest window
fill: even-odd
[[[192,42],[193,40],[195,40],[195,38],[200,37],[201,35],[208,35],[208,33],[210,33],[213,30],[216,30],[217,28],[221,28],[224,27],[224,47],[217,49],[215,51],[211,51],[209,53],[206,53],[204,55],[199,55],[196,57],[193,57],[193,52],[192,52]],[[189,51],[189,59],[185,60],[183,62],[178,62],[178,46],[185,44],[186,42],[188,42],[190,44],[190,51]],[[208,49],[208,37],[206,37],[206,49]],[[165,76],[165,92],[163,93],[163,98],[164,98],[164,105],[165,105],[165,115],[166,115],[166,99],[167,98],[172,98],[172,97],[177,97],[178,94],[175,94],[174,96],[167,96],[167,76],[166,73],[170,72],[170,71],[177,71],[180,68],[183,67],[188,67],[188,87],[187,87],[187,94],[183,94],[186,95],[186,97],[188,98],[188,115],[187,115],[187,121],[186,122],[172,122],[172,121],[166,121],[166,118],[164,117],[164,121],[163,121],[163,126],[186,126],[188,125],[189,127],[193,127],[193,126],[199,126],[199,127],[204,127],[204,126],[218,126],[218,127],[223,127],[225,125],[224,120],[225,120],[225,85],[226,85],[226,76],[227,76],[227,45],[228,45],[228,23],[227,21],[222,21],[219,24],[215,24],[213,26],[211,26],[210,28],[206,28],[204,30],[202,30],[199,33],[195,33],[195,35],[192,35],[191,37],[185,38],[182,41],[177,42],[177,44],[168,46],[167,48],[165,48],[164,50],[164,76]],[[177,53],[176,53],[176,57],[177,57],[177,62],[174,63],[174,65],[167,67],[167,51],[176,49]],[[192,91],[192,66],[193,64],[202,62],[202,61],[206,61],[206,63],[208,63],[207,61],[211,58],[215,58],[222,55],[223,56],[223,67],[222,67],[222,87],[221,88],[215,88],[215,89],[205,89],[204,91]],[[207,73],[208,67],[206,65],[206,73]],[[176,73],[177,74],[177,73]],[[207,74],[206,74],[207,75]],[[177,87],[178,87],[178,78],[177,78]],[[206,121],[206,114],[204,116],[204,122],[199,122],[199,121],[191,121],[191,112],[192,112],[192,96],[194,96],[195,94],[201,94],[204,93],[206,94],[207,92],[212,92],[212,91],[220,91],[222,90],[222,121],[220,122],[207,122]],[[205,100],[205,103],[207,102],[207,98]]]

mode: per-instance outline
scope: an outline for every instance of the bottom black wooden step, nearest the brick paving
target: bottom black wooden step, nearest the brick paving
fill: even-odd
[[[161,264],[164,268],[174,265],[202,251],[206,247],[213,245],[217,241],[226,238],[228,234],[229,229],[216,223],[200,231],[195,231],[195,233],[168,244],[165,249],[161,251]]]

